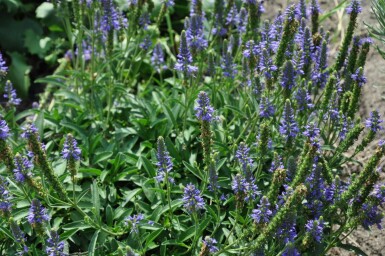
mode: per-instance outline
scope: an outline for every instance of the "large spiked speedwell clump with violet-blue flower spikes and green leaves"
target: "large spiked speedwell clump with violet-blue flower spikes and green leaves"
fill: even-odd
[[[1,254],[362,253],[344,238],[380,227],[385,142],[345,177],[383,129],[357,115],[360,2],[336,58],[317,0],[272,22],[263,1],[193,0],[173,22],[181,2],[52,3],[68,51],[39,107],[14,115],[3,83]]]

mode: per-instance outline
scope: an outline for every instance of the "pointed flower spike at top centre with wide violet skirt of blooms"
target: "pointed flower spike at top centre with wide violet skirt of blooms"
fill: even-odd
[[[183,30],[180,36],[180,47],[178,60],[175,64],[175,69],[183,72],[187,77],[192,76],[198,71],[198,68],[191,65],[193,62],[190,50],[187,46],[186,32]]]

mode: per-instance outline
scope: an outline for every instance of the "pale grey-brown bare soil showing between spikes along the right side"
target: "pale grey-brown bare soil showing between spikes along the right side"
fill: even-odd
[[[269,17],[274,17],[278,10],[284,10],[287,6],[286,0],[270,0],[265,1],[266,14]],[[297,1],[295,1],[297,2]],[[307,1],[310,2],[310,1]],[[321,9],[324,12],[332,10],[338,3],[341,3],[342,0],[328,0],[320,1]],[[350,2],[348,0],[348,2]],[[363,12],[359,16],[358,27],[356,30],[356,35],[368,35],[368,30],[364,24],[376,25],[378,22],[371,10],[371,1],[366,0],[362,1]],[[274,14],[274,15],[273,15]],[[342,15],[343,14],[343,15]],[[344,32],[346,30],[346,24],[348,22],[348,15],[345,11],[342,11],[340,14],[334,13],[327,20],[322,23],[322,26],[326,30],[331,32],[332,46],[330,49],[330,59],[336,57],[338,46],[340,45],[341,38],[343,38]],[[381,48],[385,48],[384,45],[381,45],[380,42],[375,41],[375,46],[378,45]],[[367,64],[365,66],[365,76],[367,77],[367,84],[363,87],[361,101],[360,101],[360,117],[362,120],[365,120],[369,117],[372,110],[378,110],[382,117],[385,117],[385,60],[377,52],[375,47],[372,47]],[[374,152],[376,145],[379,139],[385,139],[385,131],[381,131],[377,140],[374,141],[368,149],[359,156],[359,161],[365,163],[368,158]],[[385,162],[382,161],[381,166]],[[385,180],[384,168],[381,171],[381,182]],[[357,166],[348,166],[346,168],[346,175],[350,176],[351,173],[359,171]],[[352,244],[360,248],[367,255],[371,256],[385,256],[385,218],[382,221],[382,226],[384,229],[379,230],[377,227],[373,227],[372,230],[365,230],[360,227],[358,230],[354,231],[349,235],[343,242]],[[354,252],[349,252],[341,248],[333,248],[329,255],[341,255],[341,256],[350,256],[357,255]]]

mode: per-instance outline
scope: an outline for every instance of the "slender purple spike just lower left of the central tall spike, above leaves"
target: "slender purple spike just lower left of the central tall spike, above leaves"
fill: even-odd
[[[173,181],[172,178],[168,176],[172,170],[173,164],[170,153],[167,151],[166,144],[164,143],[163,137],[158,138],[156,158],[158,159],[158,162],[156,163],[156,166],[158,167],[158,175],[156,176],[156,180],[158,182],[163,182],[165,181],[165,178],[168,177],[169,181]]]

